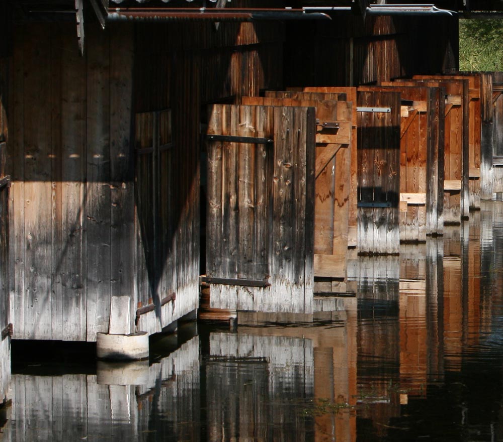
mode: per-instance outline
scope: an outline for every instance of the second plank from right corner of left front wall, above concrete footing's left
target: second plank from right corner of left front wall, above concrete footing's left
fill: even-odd
[[[110,309],[110,42],[87,32],[87,340],[108,329]],[[54,284],[54,283],[53,283]]]

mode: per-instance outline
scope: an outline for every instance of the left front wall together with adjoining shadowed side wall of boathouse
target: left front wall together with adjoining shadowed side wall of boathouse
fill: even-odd
[[[284,31],[89,24],[83,57],[73,37],[15,28],[15,335],[94,341],[114,295],[159,332],[198,305],[206,103],[277,87]]]

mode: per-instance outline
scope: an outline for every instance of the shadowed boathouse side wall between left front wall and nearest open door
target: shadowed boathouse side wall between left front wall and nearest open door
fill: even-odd
[[[136,27],[136,121],[157,118],[149,130],[158,127],[160,136],[153,152],[136,151],[137,247],[144,257],[137,278],[143,306],[162,303],[173,286],[178,286],[175,305],[193,302],[206,266],[205,236],[200,243],[199,235],[205,229],[209,178],[206,162],[200,164],[201,150],[203,159],[206,155],[200,133],[208,123],[207,105],[278,87],[283,39],[283,27],[269,24],[221,23],[218,30],[212,23],[188,22]],[[142,143],[137,147],[150,147]],[[171,303],[142,315],[139,326],[160,331],[166,322],[161,317],[175,319]]]

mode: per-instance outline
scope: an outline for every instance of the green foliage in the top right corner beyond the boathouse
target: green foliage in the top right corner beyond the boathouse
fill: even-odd
[[[459,21],[459,68],[462,71],[503,71],[503,20]]]

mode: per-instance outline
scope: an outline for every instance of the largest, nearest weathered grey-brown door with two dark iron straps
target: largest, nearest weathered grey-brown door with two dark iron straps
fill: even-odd
[[[214,105],[210,115],[210,306],[312,313],[314,109]]]

